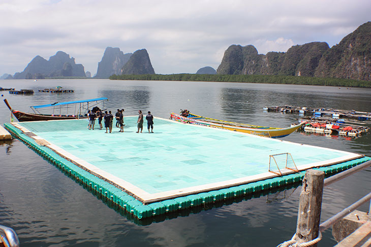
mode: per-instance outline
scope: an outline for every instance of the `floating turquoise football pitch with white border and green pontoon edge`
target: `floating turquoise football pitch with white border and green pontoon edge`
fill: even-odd
[[[125,117],[123,133],[87,120],[6,123],[71,178],[138,219],[287,186],[314,168],[330,175],[363,155],[154,118],[154,133]],[[115,121],[114,121],[115,123]],[[271,170],[271,172],[269,171]]]

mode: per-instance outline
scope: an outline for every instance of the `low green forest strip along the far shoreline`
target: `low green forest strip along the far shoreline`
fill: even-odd
[[[172,75],[112,75],[110,80],[141,80],[141,81],[191,81],[191,82],[249,82],[295,85],[319,85],[336,87],[367,87],[371,82],[339,78],[318,78],[298,76],[265,76],[265,75],[199,75],[199,74],[172,74]]]

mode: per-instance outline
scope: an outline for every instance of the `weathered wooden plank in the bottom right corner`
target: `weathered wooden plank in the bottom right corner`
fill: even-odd
[[[334,247],[370,247],[371,246],[371,221],[366,222],[357,230]]]

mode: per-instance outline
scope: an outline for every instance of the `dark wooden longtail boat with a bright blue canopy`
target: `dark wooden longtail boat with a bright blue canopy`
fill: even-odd
[[[94,98],[94,99],[86,99],[86,100],[76,100],[76,101],[67,101],[67,102],[55,102],[51,104],[43,104],[43,105],[34,105],[33,107],[30,107],[34,113],[25,113],[13,110],[7,99],[4,99],[5,104],[11,111],[11,113],[18,119],[19,122],[24,121],[46,121],[46,120],[64,120],[64,119],[80,119],[80,118],[87,118],[87,116],[84,114],[87,109],[95,107],[97,104],[108,100],[107,98]],[[90,106],[89,106],[90,103]],[[77,113],[75,114],[68,114],[68,105],[75,104],[74,109],[77,109]],[[79,107],[77,107],[79,105]],[[55,109],[57,107],[58,109]],[[61,107],[66,106],[67,112],[66,114],[61,114]],[[53,108],[53,114],[41,114],[38,109],[40,108],[47,108],[52,107]],[[71,109],[71,107],[70,107]],[[75,110],[76,111],[76,110]],[[59,113],[55,113],[59,112]]]

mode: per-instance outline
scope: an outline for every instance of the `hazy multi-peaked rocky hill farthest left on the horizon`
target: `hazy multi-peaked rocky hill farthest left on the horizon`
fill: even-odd
[[[76,64],[75,58],[58,51],[49,60],[36,56],[14,79],[44,79],[46,77],[85,77],[84,66]]]

